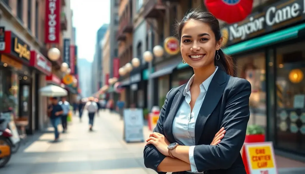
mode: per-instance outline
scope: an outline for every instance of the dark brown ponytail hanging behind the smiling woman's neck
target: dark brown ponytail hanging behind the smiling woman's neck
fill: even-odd
[[[218,50],[218,55],[219,55],[218,60],[215,57],[215,66],[218,66],[220,69],[222,69],[230,76],[235,76],[234,62],[232,57],[224,54],[224,51],[222,51],[222,49]]]

